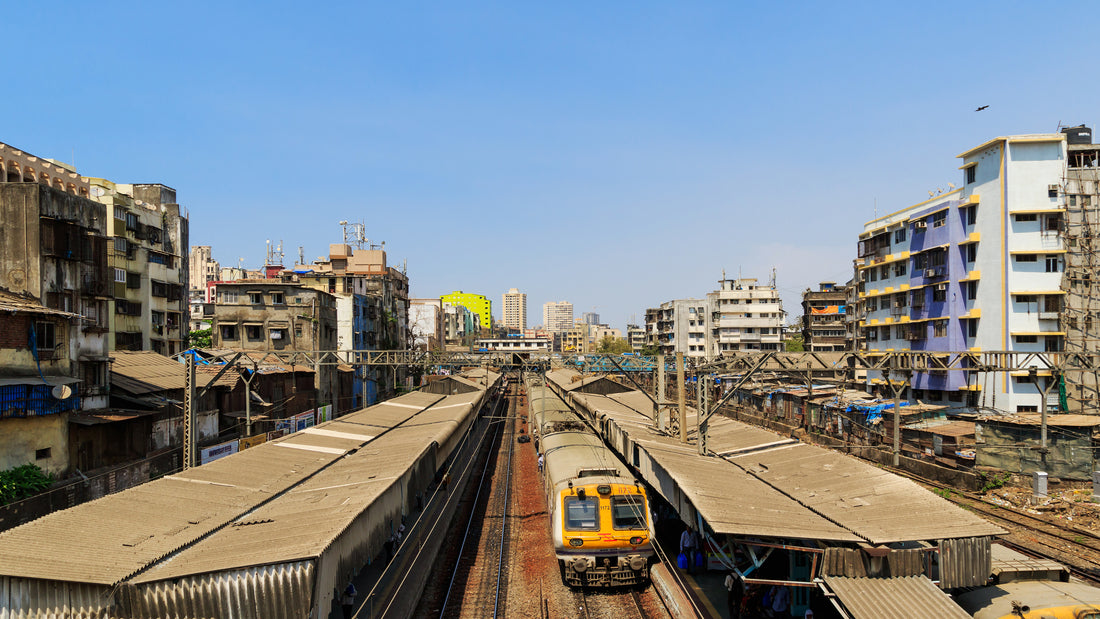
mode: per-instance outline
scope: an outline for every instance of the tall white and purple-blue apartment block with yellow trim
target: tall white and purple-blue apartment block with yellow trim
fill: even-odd
[[[1001,136],[958,156],[961,187],[876,219],[859,235],[860,335],[868,350],[1094,351],[1092,244],[1098,146],[1091,132]],[[1068,267],[1067,267],[1068,265]],[[954,408],[1057,410],[1038,372],[914,372],[909,397]],[[1070,411],[1096,378],[1065,376]],[[883,377],[868,373],[883,391]]]

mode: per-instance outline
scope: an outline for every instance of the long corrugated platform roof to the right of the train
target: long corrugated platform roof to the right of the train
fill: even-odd
[[[574,375],[562,371],[552,373],[551,378],[575,385]],[[692,408],[686,420],[690,442],[682,444],[678,436],[657,433],[652,421],[632,408],[652,409],[652,402],[640,393],[603,397],[574,391],[570,397],[612,418],[646,449],[675,478],[716,532],[777,534],[783,524],[792,523],[791,531],[778,537],[855,539],[876,544],[1004,533],[909,479],[770,430],[713,417],[707,449],[724,455],[701,456],[695,446]],[[759,500],[760,505],[752,502],[746,509],[745,501],[750,500]],[[771,520],[780,521],[779,527],[771,520],[758,523],[757,513],[769,513]],[[913,518],[914,513],[921,518]]]

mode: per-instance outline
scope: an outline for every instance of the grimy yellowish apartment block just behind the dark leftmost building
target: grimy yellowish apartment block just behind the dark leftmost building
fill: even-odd
[[[113,279],[112,351],[174,355],[187,349],[190,302],[188,221],[176,190],[164,185],[89,178],[92,199],[107,208],[108,259]]]

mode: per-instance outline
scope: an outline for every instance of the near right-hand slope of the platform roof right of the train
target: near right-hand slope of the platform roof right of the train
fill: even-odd
[[[727,460],[875,544],[1004,533],[914,482],[832,450],[795,443]]]

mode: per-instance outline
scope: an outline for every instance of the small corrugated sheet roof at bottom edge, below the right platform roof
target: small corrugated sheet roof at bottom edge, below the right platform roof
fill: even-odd
[[[970,619],[950,596],[924,576],[825,576],[824,581],[853,619]]]

